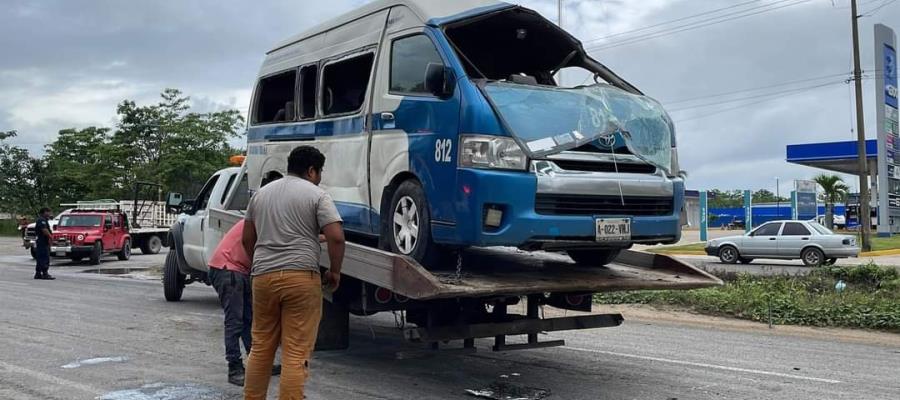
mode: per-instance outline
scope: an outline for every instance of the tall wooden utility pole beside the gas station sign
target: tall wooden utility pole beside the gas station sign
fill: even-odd
[[[869,161],[866,158],[866,128],[863,123],[862,70],[859,66],[859,15],[856,0],[850,0],[850,26],[853,29],[853,85],[856,87],[856,147],[859,152],[859,228],[862,251],[871,251],[872,213],[869,211]],[[884,154],[881,155],[885,157]]]

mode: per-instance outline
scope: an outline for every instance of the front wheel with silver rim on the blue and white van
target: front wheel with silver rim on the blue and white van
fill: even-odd
[[[431,213],[418,181],[406,180],[397,187],[386,217],[383,234],[387,235],[385,239],[392,252],[410,256],[426,267],[438,266],[440,248],[431,239]],[[411,232],[410,226],[404,227],[402,223],[414,224],[415,231]]]

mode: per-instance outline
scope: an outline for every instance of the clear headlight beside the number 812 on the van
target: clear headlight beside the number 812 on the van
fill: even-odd
[[[515,140],[500,136],[462,135],[459,166],[525,170],[527,157]]]

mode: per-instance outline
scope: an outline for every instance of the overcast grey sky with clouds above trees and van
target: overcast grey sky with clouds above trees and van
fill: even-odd
[[[197,111],[246,112],[267,49],[366,2],[0,1],[0,130],[18,130],[13,143],[33,152],[63,128],[113,126],[121,100],[154,103],[167,87],[190,95]],[[862,65],[871,71],[873,25],[900,21],[900,3],[860,3],[863,12],[884,5],[860,20]],[[557,18],[555,1],[521,4]],[[818,173],[787,164],[785,145],[855,138],[850,88],[841,83],[851,70],[849,0],[565,4],[566,29],[586,47],[599,47],[591,51],[595,58],[666,105],[676,121],[689,188],[775,191],[778,176],[784,194],[791,180]],[[710,17],[744,12],[760,13],[697,27],[713,22],[702,22]],[[654,33],[678,26],[696,29]],[[567,83],[578,83],[570,78]],[[775,86],[783,82],[796,83]],[[866,132],[872,138],[874,82],[864,82]],[[744,91],[761,87],[767,88]],[[713,97],[732,92],[738,93]],[[846,179],[856,187],[855,177]]]

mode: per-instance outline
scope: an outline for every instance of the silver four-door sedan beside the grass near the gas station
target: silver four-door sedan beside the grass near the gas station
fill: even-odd
[[[835,234],[815,221],[771,221],[744,235],[708,241],[706,254],[718,256],[726,264],[777,258],[819,266],[856,257],[859,247],[854,236]]]

